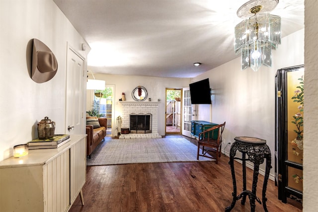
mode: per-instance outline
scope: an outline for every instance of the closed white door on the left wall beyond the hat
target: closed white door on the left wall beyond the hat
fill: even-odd
[[[66,71],[66,134],[84,134],[84,59],[70,46]]]

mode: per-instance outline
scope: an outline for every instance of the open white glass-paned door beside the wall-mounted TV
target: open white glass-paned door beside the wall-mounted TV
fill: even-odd
[[[183,107],[182,107],[182,135],[191,138],[191,120],[192,120],[192,105],[190,99],[190,89],[183,88]]]

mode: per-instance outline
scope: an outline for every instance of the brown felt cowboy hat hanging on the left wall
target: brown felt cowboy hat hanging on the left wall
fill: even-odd
[[[38,39],[33,39],[31,78],[37,83],[49,81],[58,71],[52,51]]]

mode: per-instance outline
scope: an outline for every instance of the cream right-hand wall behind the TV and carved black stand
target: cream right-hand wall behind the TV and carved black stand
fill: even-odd
[[[282,38],[272,52],[272,68],[262,66],[257,72],[240,71],[240,58],[205,72],[192,81],[209,78],[212,88],[212,113],[204,121],[226,121],[223,139],[234,142],[237,136],[265,139],[272,154],[275,151],[275,74],[278,69],[304,64],[304,30]],[[199,106],[199,113],[209,108]],[[226,145],[223,145],[223,148]],[[229,152],[230,146],[226,151]],[[264,164],[260,167],[265,170]],[[271,169],[271,178],[274,176]]]

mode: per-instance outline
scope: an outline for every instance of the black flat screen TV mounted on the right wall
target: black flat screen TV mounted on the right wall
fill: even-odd
[[[211,104],[209,78],[189,84],[191,104]]]

